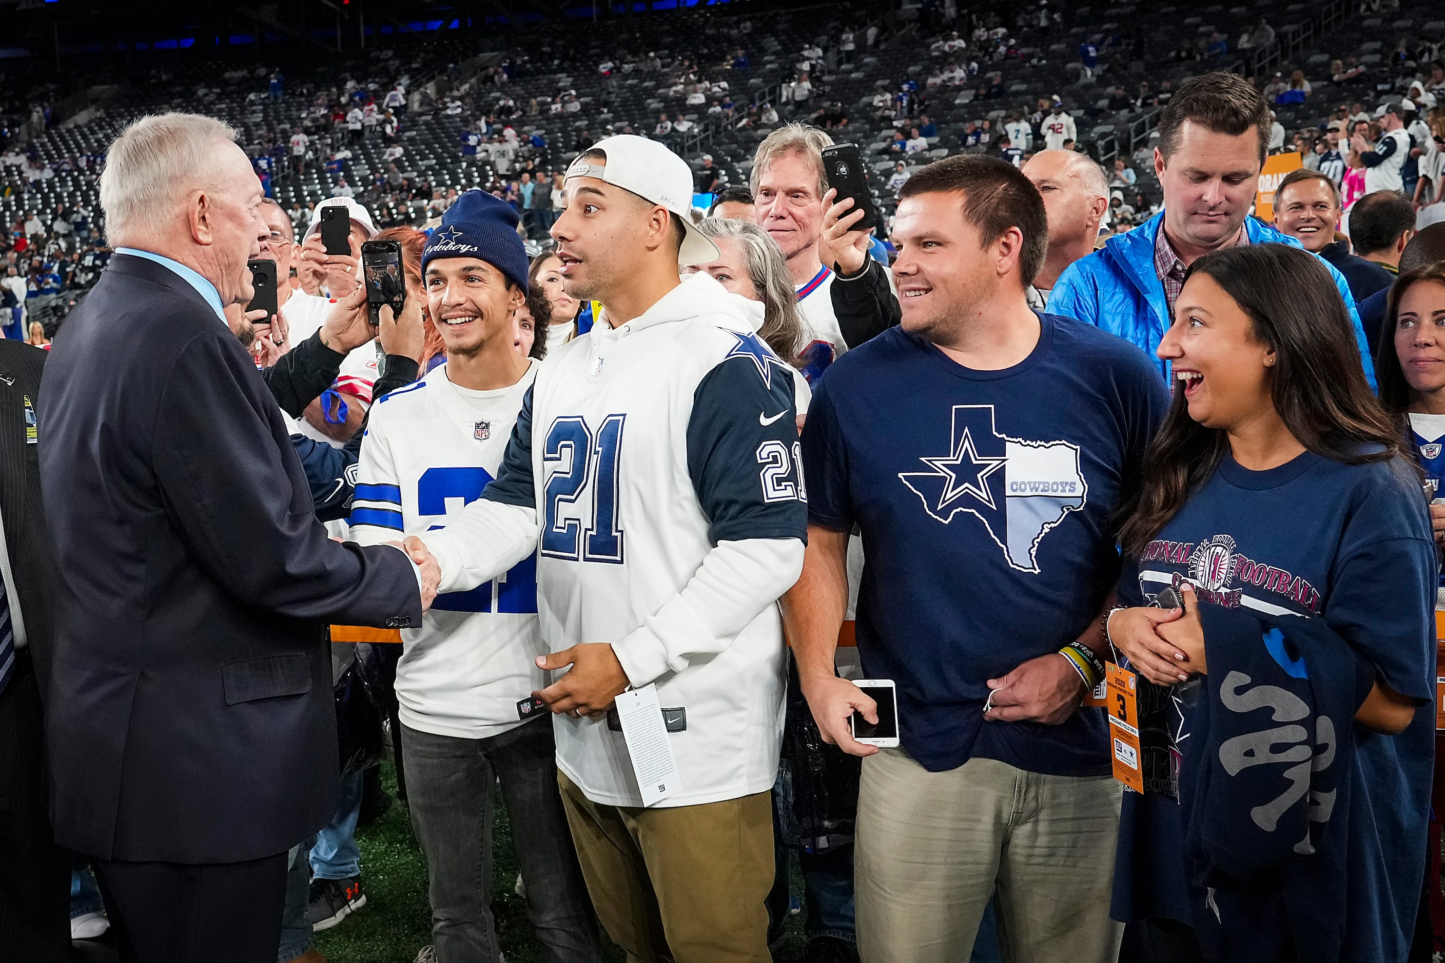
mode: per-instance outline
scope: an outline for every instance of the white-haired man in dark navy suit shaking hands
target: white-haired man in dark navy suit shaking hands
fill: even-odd
[[[92,858],[123,959],[270,963],[286,850],[337,804],[321,627],[413,625],[438,573],[314,517],[224,318],[266,234],[234,131],[136,121],[100,193],[116,253],[39,407],[56,839]]]

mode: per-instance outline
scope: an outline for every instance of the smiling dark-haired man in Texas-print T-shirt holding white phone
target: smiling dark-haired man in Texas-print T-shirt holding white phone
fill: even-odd
[[[1103,674],[1108,520],[1168,396],[1139,349],[1029,308],[1048,217],[1013,165],[929,165],[893,240],[902,326],[815,387],[808,549],[783,596],[824,739],[866,757],[858,951],[959,959],[993,898],[1012,959],[1111,963],[1120,787],[1107,723],[1079,703]],[[897,687],[896,749],[850,735],[855,710],[880,719],[834,671],[855,527],[858,655]]]

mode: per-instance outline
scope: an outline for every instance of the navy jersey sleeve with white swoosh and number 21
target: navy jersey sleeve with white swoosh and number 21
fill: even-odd
[[[712,544],[806,539],[801,456],[792,372],[770,354],[727,358],[698,383],[688,475]]]

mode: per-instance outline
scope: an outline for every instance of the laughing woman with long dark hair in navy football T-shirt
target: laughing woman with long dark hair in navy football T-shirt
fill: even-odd
[[[1429,809],[1420,709],[1435,689],[1419,475],[1366,384],[1344,302],[1305,251],[1240,245],[1195,261],[1157,354],[1175,397],[1121,514],[1127,608],[1105,631],[1172,696],[1176,777],[1126,794],[1113,905],[1134,924],[1126,949],[1402,960]],[[1182,609],[1146,608],[1166,586]],[[1327,798],[1315,780],[1335,759]],[[1276,806],[1308,807],[1303,840],[1280,836],[1293,830]],[[1221,876],[1211,832],[1235,855],[1279,856]]]

